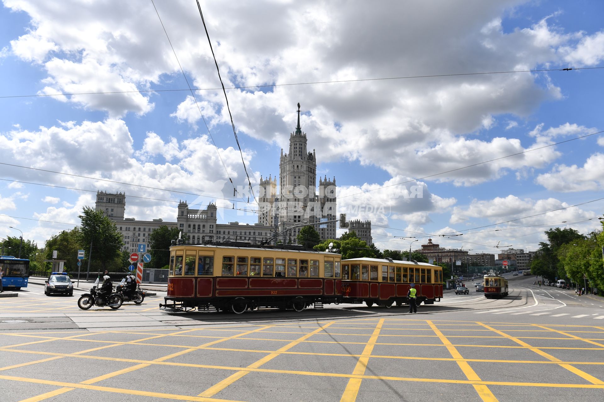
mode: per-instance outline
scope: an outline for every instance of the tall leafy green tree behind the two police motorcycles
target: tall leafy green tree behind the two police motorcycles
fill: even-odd
[[[83,250],[89,253],[92,243],[92,260],[100,264],[100,271],[108,269],[108,265],[120,256],[123,246],[121,233],[117,231],[115,223],[111,221],[102,211],[94,208],[84,207],[78,242]]]

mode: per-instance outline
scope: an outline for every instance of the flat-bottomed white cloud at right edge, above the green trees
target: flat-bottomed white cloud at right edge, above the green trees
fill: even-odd
[[[604,189],[604,154],[591,155],[582,168],[556,165],[551,172],[540,174],[535,181],[557,192],[600,191]]]

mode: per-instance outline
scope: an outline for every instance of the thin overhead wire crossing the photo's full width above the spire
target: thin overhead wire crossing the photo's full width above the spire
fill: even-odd
[[[567,68],[567,69],[535,69],[535,70],[515,70],[515,71],[485,71],[485,72],[463,72],[455,74],[431,74],[431,75],[406,75],[403,77],[378,77],[378,78],[359,78],[357,80],[333,80],[333,81],[309,81],[305,83],[284,83],[284,84],[263,84],[249,86],[233,86],[225,87],[225,89],[255,89],[255,88],[271,88],[285,87],[297,85],[318,85],[318,84],[343,84],[343,83],[361,83],[364,81],[387,81],[387,80],[411,80],[417,78],[439,78],[439,77],[464,77],[468,75],[490,75],[490,74],[518,74],[532,72],[553,72],[553,71],[578,71],[578,70],[597,70],[604,67],[583,67],[583,68]],[[189,88],[189,89],[147,89],[147,90],[130,90],[130,91],[100,91],[100,92],[61,92],[61,93],[36,93],[35,95],[4,95],[1,98],[41,98],[44,96],[73,96],[73,95],[112,95],[116,93],[149,93],[149,92],[190,92],[194,91],[213,91],[222,88]]]

